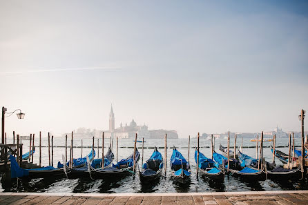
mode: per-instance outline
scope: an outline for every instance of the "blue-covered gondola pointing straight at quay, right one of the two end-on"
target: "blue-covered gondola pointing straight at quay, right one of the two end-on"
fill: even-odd
[[[191,168],[189,162],[183,157],[183,155],[173,147],[173,153],[170,159],[172,177],[176,182],[182,184],[189,182],[191,176]]]

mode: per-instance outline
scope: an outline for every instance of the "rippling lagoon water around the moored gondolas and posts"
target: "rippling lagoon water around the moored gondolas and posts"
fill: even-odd
[[[234,139],[231,138],[231,146],[234,144]],[[289,139],[277,139],[276,146],[287,146]],[[238,146],[240,146],[242,139],[238,139]],[[8,139],[8,144],[12,141]],[[109,139],[105,139],[105,146],[109,144]],[[219,151],[219,144],[227,146],[227,139],[216,139],[215,150]],[[42,138],[42,146],[48,146],[48,139]],[[51,143],[50,143],[51,144]],[[264,141],[264,146],[269,146],[270,142]],[[34,155],[34,162],[39,164],[39,141],[38,137],[35,138],[36,152]],[[70,139],[68,139],[70,146]],[[83,145],[88,148],[83,148],[83,156],[90,152],[92,139],[83,139]],[[185,185],[174,183],[171,179],[171,169],[169,159],[172,153],[172,147],[176,146],[182,155],[188,159],[188,139],[168,139],[167,150],[167,173],[166,177],[162,176],[157,182],[149,185],[140,183],[138,174],[128,176],[120,179],[118,182],[106,182],[104,180],[91,180],[91,179],[31,179],[22,180],[17,186],[17,182],[13,182],[11,188],[5,188],[0,185],[0,192],[48,192],[48,193],[176,193],[176,192],[213,192],[213,191],[280,191],[280,190],[307,190],[307,179],[301,182],[284,182],[278,184],[267,179],[264,182],[242,182],[240,179],[232,176],[226,176],[223,184],[213,184],[204,181],[202,178],[196,177],[196,163],[194,159],[195,146],[197,139],[191,139],[190,148],[190,162],[191,162],[191,182]],[[300,145],[300,139],[296,139],[296,145]],[[54,166],[61,160],[61,155],[65,155],[65,148],[57,146],[65,146],[65,139],[55,137],[54,139]],[[74,146],[81,146],[81,139],[74,139]],[[102,146],[102,139],[99,139],[99,146]],[[134,142],[133,139],[119,139],[119,160],[128,157],[133,153]],[[144,143],[144,161],[148,159],[153,153],[153,146],[157,146],[159,151],[164,156],[164,139],[146,139]],[[211,157],[211,141],[200,139],[200,152],[204,153],[207,157]],[[250,139],[244,139],[243,146],[256,146],[256,142],[251,142]],[[207,147],[207,148],[206,148]],[[142,143],[137,143],[139,152],[142,153]],[[41,162],[43,166],[48,166],[48,147],[41,148]],[[278,148],[285,153],[289,152],[289,148]],[[23,153],[28,152],[29,141],[23,140]],[[95,139],[95,151],[97,153],[97,139]],[[105,148],[105,152],[107,148]],[[50,150],[51,152],[51,150]],[[117,156],[116,141],[113,141],[113,153]],[[243,148],[243,153],[256,157],[256,148]],[[74,157],[81,156],[81,148],[74,148]],[[69,157],[69,153],[68,153]],[[97,156],[96,156],[97,157]],[[99,148],[99,157],[102,157],[102,148]],[[269,148],[264,148],[264,157],[267,161],[271,162],[272,153]],[[276,159],[276,164],[281,164]],[[142,165],[142,157],[139,160],[139,167]]]

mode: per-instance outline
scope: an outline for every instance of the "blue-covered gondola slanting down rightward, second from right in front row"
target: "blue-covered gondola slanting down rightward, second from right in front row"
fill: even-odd
[[[238,157],[240,159],[240,155],[242,153],[240,153],[240,151],[238,150]],[[223,155],[220,155],[218,153],[213,153],[213,159],[215,160],[215,162],[218,162],[218,164],[220,164],[220,168],[223,168],[225,173],[228,173],[228,159],[227,157],[224,157]],[[223,163],[223,165],[222,165]],[[242,163],[245,164],[245,163]],[[253,180],[253,181],[263,181],[266,179],[266,174],[264,173],[263,170],[258,170],[256,168],[253,167],[243,167],[241,166],[240,162],[238,162],[238,160],[236,159],[229,159],[229,174],[236,176],[236,177],[240,177],[243,180]]]

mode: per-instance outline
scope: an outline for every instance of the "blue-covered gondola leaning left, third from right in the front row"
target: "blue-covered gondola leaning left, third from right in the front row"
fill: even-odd
[[[198,159],[198,149],[195,148],[195,163]],[[209,159],[205,157],[202,153],[199,151],[199,173],[201,177],[204,179],[210,179],[211,181],[215,183],[221,183],[224,182],[224,173],[222,170],[219,170],[215,165],[215,163],[212,159]]]

